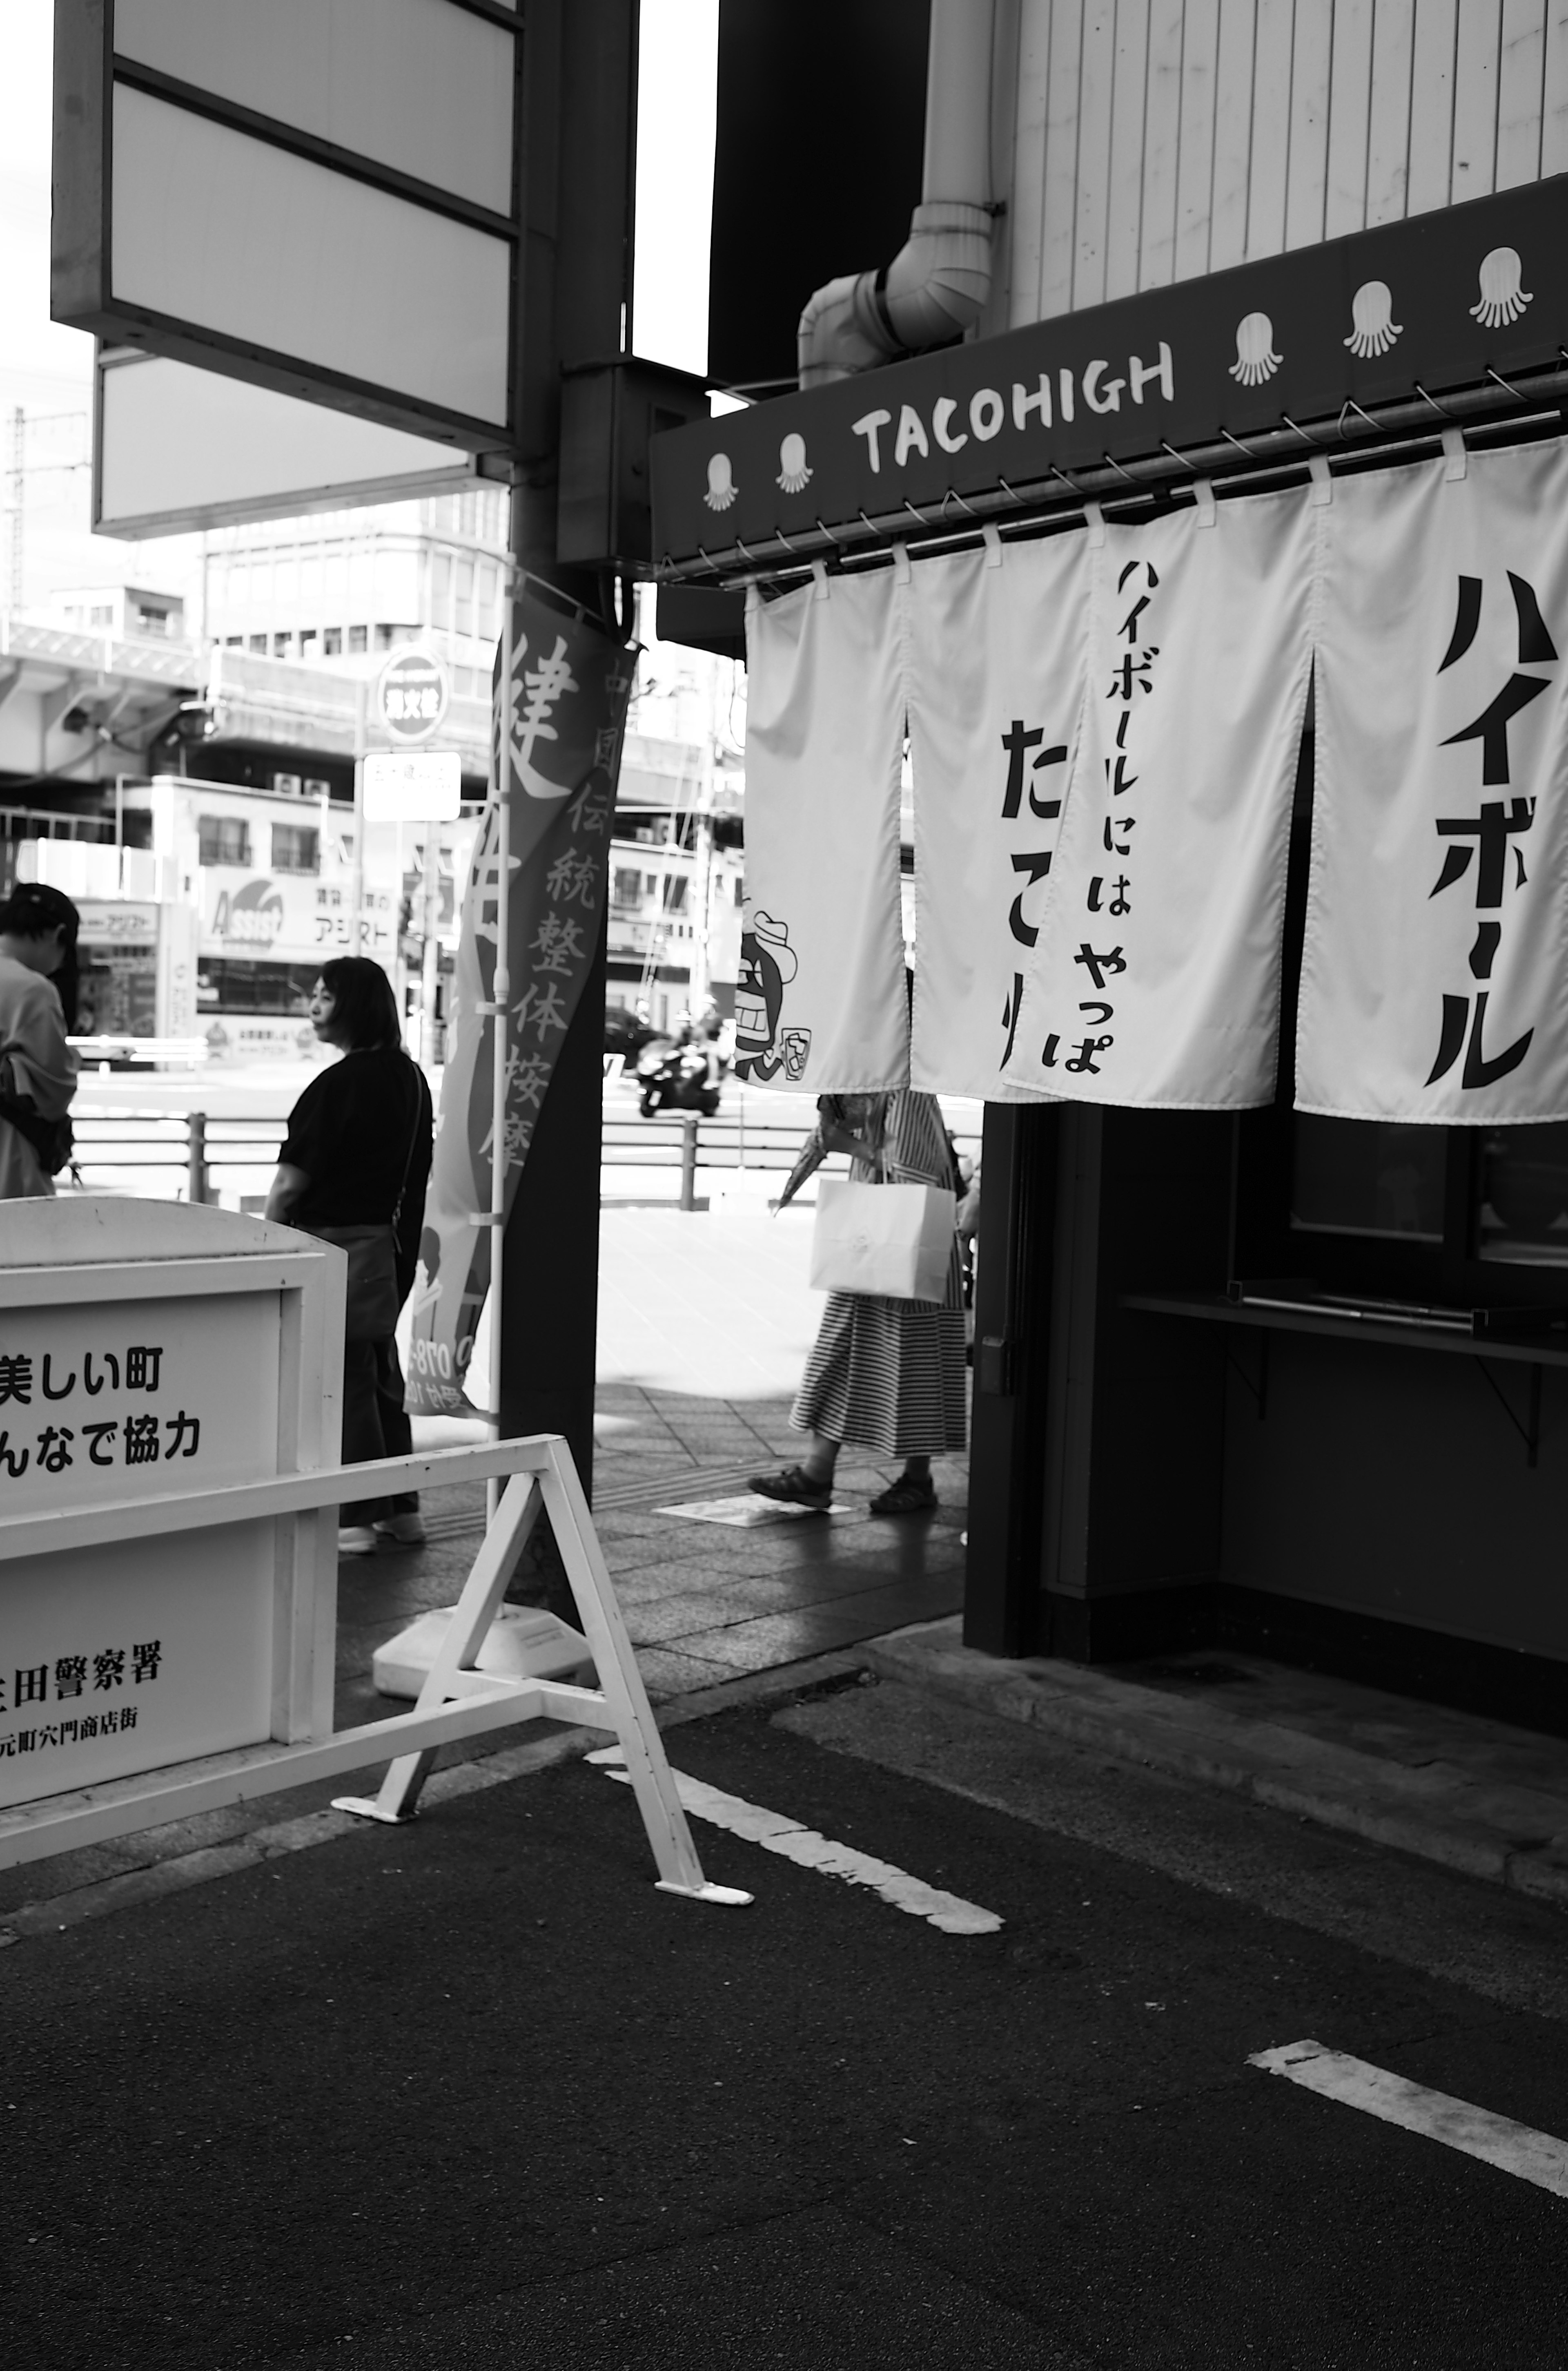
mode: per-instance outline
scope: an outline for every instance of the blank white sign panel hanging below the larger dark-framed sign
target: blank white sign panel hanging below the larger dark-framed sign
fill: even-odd
[[[474,481],[471,458],[429,436],[135,351],[99,356],[92,462],[92,524],[123,538]]]

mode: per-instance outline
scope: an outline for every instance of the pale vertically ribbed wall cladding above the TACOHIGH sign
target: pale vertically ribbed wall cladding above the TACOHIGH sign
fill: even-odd
[[[992,320],[1568,171],[1568,0],[1011,7],[1009,285]]]

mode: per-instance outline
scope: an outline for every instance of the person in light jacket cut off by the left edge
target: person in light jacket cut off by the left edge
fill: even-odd
[[[0,1202],[54,1193],[52,1138],[76,1093],[54,974],[73,967],[81,915],[62,889],[0,899]]]

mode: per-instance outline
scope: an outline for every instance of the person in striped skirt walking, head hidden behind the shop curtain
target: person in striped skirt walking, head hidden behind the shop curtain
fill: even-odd
[[[879,1100],[881,1152],[855,1155],[850,1176],[860,1183],[957,1188],[952,1143],[936,1095],[898,1088]],[[810,1432],[810,1449],[784,1472],[753,1475],[751,1489],[786,1506],[831,1506],[838,1449],[850,1442],[855,1449],[902,1458],[900,1477],[872,1498],[874,1515],[933,1508],[931,1458],[962,1449],[966,1437],[964,1380],[964,1290],[955,1235],[940,1302],[829,1292],[789,1411],[791,1425]]]

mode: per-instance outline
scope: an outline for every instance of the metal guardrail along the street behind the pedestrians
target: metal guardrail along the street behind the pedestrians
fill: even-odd
[[[216,1202],[225,1181],[239,1171],[272,1171],[287,1131],[284,1112],[230,1119],[208,1112],[83,1112],[73,1117],[76,1167],[92,1183],[99,1171],[161,1176],[166,1200]],[[962,1155],[978,1159],[978,1131],[952,1131]],[[701,1112],[658,1112],[642,1119],[635,1112],[604,1112],[602,1171],[670,1171],[677,1209],[696,1209],[696,1174],[770,1171],[784,1181],[793,1169],[805,1124],[796,1119],[756,1119],[744,1107]],[[829,1164],[834,1171],[843,1162]],[[102,1190],[102,1188],[99,1188]],[[135,1190],[135,1188],[133,1188]]]

